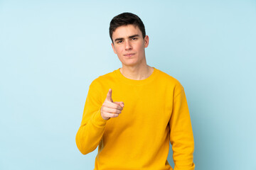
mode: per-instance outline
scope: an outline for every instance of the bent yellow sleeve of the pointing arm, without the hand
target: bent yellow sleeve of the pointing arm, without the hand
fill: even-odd
[[[75,136],[76,145],[82,154],[88,154],[97,148],[105,130],[107,120],[100,115],[102,101],[99,89],[92,81],[85,101],[82,123]]]

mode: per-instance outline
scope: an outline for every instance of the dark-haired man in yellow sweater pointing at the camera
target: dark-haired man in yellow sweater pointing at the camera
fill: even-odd
[[[112,48],[122,68],[98,77],[87,94],[76,144],[98,146],[95,169],[194,169],[193,132],[183,86],[146,64],[149,36],[141,19],[121,13],[110,22]],[[125,107],[124,107],[125,105]]]

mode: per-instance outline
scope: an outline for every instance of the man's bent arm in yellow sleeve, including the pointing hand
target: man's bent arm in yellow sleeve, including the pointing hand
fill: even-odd
[[[82,154],[88,154],[96,149],[104,134],[107,120],[116,118],[122,113],[124,107],[123,102],[113,102],[112,89],[108,91],[107,98],[102,103],[102,95],[97,89],[102,87],[93,81],[85,101],[82,123],[75,137],[75,142]]]

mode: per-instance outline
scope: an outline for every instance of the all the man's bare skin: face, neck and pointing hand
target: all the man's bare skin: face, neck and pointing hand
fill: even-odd
[[[142,31],[134,25],[119,26],[112,34],[112,48],[122,62],[120,72],[128,79],[141,80],[149,77],[154,71],[146,64],[145,48],[149,45],[149,36],[142,36]],[[124,102],[112,100],[112,89],[109,89],[100,113],[108,120],[116,118],[124,108]]]

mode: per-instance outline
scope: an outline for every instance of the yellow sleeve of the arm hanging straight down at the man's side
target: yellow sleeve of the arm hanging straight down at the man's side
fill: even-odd
[[[174,96],[171,114],[170,141],[173,149],[174,170],[193,170],[194,140],[191,118],[183,87]]]

